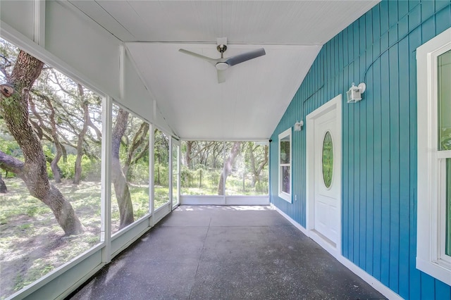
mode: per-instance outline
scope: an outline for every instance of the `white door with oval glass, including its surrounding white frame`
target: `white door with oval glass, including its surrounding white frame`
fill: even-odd
[[[341,95],[307,115],[307,230],[341,251]]]

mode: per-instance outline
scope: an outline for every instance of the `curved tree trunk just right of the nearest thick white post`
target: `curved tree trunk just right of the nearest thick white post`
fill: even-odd
[[[118,111],[116,117],[116,124],[113,128],[112,146],[111,146],[111,180],[113,181],[114,192],[119,206],[119,215],[121,220],[119,229],[135,222],[133,217],[132,197],[128,189],[128,183],[121,168],[121,161],[119,159],[119,149],[121,147],[121,139],[127,128],[128,111],[122,108]]]

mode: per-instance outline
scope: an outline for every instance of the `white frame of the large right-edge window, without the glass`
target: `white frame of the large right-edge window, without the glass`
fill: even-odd
[[[451,49],[451,28],[416,49],[418,206],[416,268],[451,285],[445,255],[445,159],[438,151],[437,57]]]

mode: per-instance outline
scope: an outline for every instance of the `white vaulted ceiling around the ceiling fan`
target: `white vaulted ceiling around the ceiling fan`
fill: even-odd
[[[144,85],[182,139],[268,139],[321,46],[379,1],[72,1],[127,47]],[[216,68],[263,47],[265,56]]]

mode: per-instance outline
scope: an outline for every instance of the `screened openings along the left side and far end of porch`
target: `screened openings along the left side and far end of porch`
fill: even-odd
[[[4,91],[27,84],[0,104],[1,298],[87,279],[180,204],[269,205],[267,141],[180,141],[5,39],[0,51]]]

